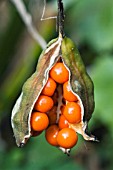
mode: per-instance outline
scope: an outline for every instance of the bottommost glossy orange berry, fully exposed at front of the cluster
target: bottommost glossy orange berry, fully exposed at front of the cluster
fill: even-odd
[[[57,135],[58,145],[69,149],[76,145],[78,136],[76,132],[71,128],[61,129]]]

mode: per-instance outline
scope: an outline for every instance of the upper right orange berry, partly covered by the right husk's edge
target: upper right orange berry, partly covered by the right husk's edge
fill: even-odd
[[[68,81],[63,84],[63,97],[69,102],[74,102],[78,100],[77,97],[71,92]]]

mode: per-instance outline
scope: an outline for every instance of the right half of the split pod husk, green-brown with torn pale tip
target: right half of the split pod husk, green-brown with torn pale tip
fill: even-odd
[[[94,85],[86,72],[86,68],[81,59],[76,45],[71,39],[65,37],[61,45],[62,60],[69,70],[70,87],[72,92],[77,95],[81,106],[82,118],[79,124],[70,124],[70,127],[82,134],[84,139],[95,141],[95,137],[86,134],[88,121],[94,111]]]

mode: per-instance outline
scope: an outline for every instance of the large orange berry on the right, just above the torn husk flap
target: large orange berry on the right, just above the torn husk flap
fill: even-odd
[[[79,123],[81,121],[81,108],[79,104],[68,102],[64,108],[63,115],[69,123]]]

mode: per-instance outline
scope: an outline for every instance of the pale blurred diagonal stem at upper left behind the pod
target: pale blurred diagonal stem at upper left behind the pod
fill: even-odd
[[[38,33],[32,22],[32,16],[27,12],[26,7],[22,0],[10,0],[16,7],[18,13],[20,14],[23,22],[25,23],[31,36],[38,42],[38,44],[45,49],[46,42],[43,37]]]

